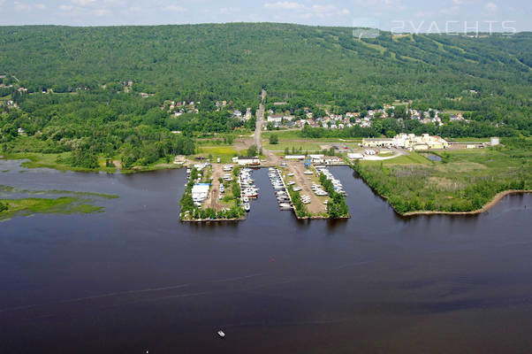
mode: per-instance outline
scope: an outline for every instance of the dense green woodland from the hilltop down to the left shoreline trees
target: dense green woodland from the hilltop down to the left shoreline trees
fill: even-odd
[[[149,165],[194,152],[197,132],[241,126],[229,112],[214,112],[215,103],[255,109],[262,88],[268,89],[267,104],[284,101],[293,112],[318,104],[347,112],[394,102],[475,112],[467,128],[414,122],[397,127],[390,120],[369,130],[308,136],[401,129],[455,136],[532,134],[531,34],[468,38],[383,32],[359,40],[352,31],[271,23],[0,27],[0,75],[5,75],[0,149],[72,151],[69,163],[88,168],[97,156],[119,157],[124,166]],[[10,99],[19,108],[8,107]],[[168,101],[195,102],[199,113],[174,117],[161,109]],[[32,139],[21,143],[19,128]]]

